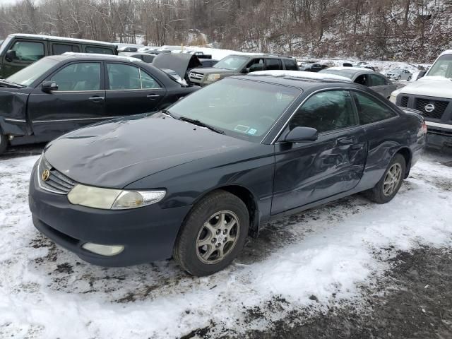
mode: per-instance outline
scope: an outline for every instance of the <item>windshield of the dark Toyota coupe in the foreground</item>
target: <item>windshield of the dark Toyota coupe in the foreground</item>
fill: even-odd
[[[258,143],[301,93],[283,85],[227,78],[185,97],[169,107],[169,113]]]

